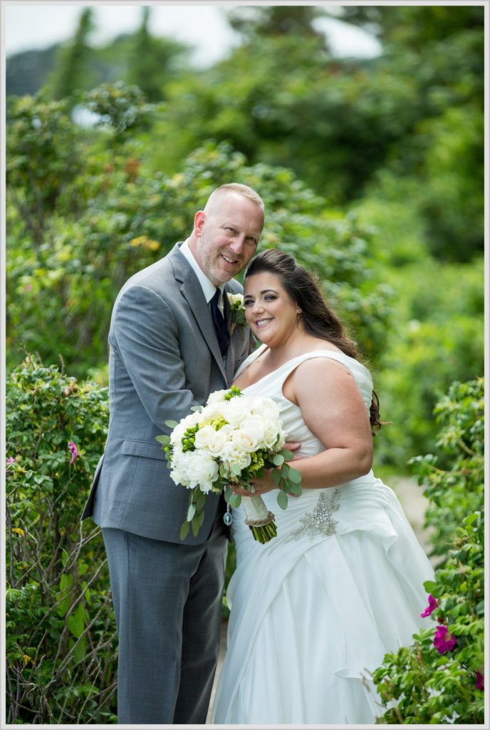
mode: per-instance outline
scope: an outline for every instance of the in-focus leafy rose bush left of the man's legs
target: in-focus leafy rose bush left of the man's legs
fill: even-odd
[[[7,723],[115,721],[104,545],[79,521],[108,415],[105,388],[33,356],[7,380]]]

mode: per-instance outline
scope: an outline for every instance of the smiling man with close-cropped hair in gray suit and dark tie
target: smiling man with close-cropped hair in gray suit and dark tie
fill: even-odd
[[[217,188],[190,237],[135,274],[109,331],[109,433],[82,519],[101,526],[119,637],[118,721],[204,724],[219,650],[228,534],[223,499],[206,496],[198,537],[183,541],[189,494],[155,441],[254,349],[230,334],[228,293],[249,263],[264,204],[246,185]]]

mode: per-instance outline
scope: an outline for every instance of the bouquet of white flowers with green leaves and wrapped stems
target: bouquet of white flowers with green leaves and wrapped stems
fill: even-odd
[[[206,405],[182,418],[180,423],[167,421],[174,430],[170,436],[157,440],[166,452],[170,475],[176,484],[190,489],[187,518],[180,538],[189,534],[192,525],[196,536],[204,519],[206,494],[224,490],[228,512],[224,520],[231,524],[230,507],[242,503],[233,488],[249,491],[243,500],[245,523],[258,542],[276,537],[274,515],[269,512],[260,495],[254,494],[250,483],[260,477],[263,469],[272,469],[279,493],[281,509],[287,507],[287,495],[300,495],[300,472],[286,464],[293,458],[284,450],[285,434],[279,407],[271,398],[244,396],[239,388],[211,393]]]

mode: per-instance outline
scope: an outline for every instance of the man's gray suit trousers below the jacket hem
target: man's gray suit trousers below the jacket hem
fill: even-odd
[[[102,534],[119,637],[119,723],[206,723],[228,548],[222,518],[201,545]]]

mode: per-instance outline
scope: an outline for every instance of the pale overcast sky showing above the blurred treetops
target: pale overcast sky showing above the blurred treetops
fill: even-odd
[[[90,4],[90,3],[89,3]],[[149,4],[149,3],[148,3]],[[246,4],[246,3],[244,3]],[[179,5],[152,6],[150,30],[195,46],[195,64],[213,64],[238,42],[228,26],[225,9],[236,4],[201,4],[181,2]],[[4,48],[12,53],[44,48],[69,39],[77,28],[79,15],[87,7],[83,3],[23,3],[3,2]],[[141,4],[93,4],[97,31],[93,43],[105,43],[120,33],[131,33],[141,22]],[[377,55],[376,40],[337,20],[319,21],[327,34],[335,55],[370,57]]]

